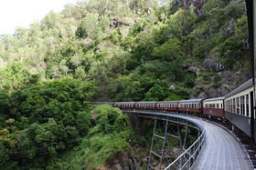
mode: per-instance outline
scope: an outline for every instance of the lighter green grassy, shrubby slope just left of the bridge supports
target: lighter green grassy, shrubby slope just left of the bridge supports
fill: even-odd
[[[137,143],[137,141],[128,116],[110,105],[97,105],[91,114],[94,123],[89,129],[90,134],[82,139],[79,146],[56,159],[51,167],[57,169],[100,168],[112,157],[118,157],[123,153],[129,155],[132,151],[130,142]],[[112,126],[112,132],[108,131],[110,129],[106,126]]]

